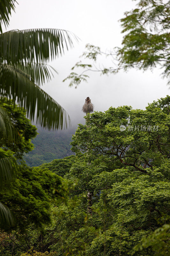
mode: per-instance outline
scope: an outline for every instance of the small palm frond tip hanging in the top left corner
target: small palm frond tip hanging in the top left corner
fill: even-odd
[[[5,28],[9,25],[11,11],[15,10],[16,0],[1,0],[0,3],[0,32],[2,33],[2,25]]]

